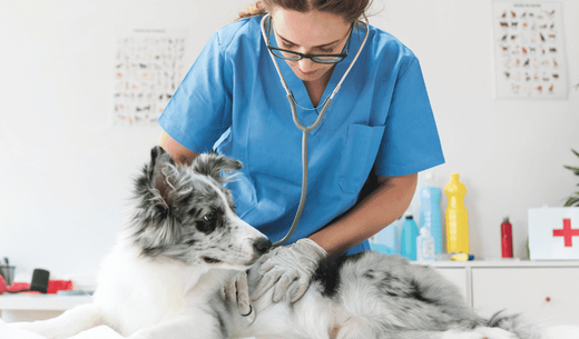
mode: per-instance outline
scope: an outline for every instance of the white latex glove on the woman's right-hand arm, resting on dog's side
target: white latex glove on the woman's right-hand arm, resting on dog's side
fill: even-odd
[[[282,300],[284,296],[290,297],[292,302],[300,300],[307,290],[320,261],[326,256],[327,252],[320,245],[307,238],[275,248],[261,259],[257,273],[262,278],[252,292],[252,299],[259,299],[275,285],[274,302]]]

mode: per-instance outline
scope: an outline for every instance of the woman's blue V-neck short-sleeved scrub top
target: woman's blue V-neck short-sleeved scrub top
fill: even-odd
[[[293,122],[262,38],[261,19],[238,20],[212,36],[158,123],[195,152],[215,148],[243,162],[242,173],[228,183],[237,213],[274,242],[286,235],[300,202],[302,131]],[[364,30],[354,30],[350,54],[335,66],[321,102],[352,62]],[[303,81],[284,60],[277,61],[297,103],[313,109]],[[297,107],[297,116],[310,126],[317,111]],[[310,132],[307,149],[306,203],[288,242],[308,237],[352,208],[372,169],[377,176],[403,176],[443,163],[412,51],[370,27],[356,63],[322,123]],[[347,252],[367,249],[364,241]]]

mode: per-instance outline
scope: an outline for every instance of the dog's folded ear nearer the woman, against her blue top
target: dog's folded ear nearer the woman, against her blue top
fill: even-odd
[[[219,183],[225,183],[232,178],[229,176],[232,172],[242,169],[242,162],[210,151],[209,153],[202,153],[195,157],[192,168],[200,175],[214,178]],[[222,176],[222,171],[226,175],[225,177]]]

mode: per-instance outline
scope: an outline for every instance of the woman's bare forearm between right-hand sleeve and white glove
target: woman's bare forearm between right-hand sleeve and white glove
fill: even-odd
[[[312,235],[327,253],[338,253],[369,239],[406,211],[416,189],[418,173],[379,177],[380,186],[350,212]]]

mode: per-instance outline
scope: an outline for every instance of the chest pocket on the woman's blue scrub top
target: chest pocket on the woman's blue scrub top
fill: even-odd
[[[359,193],[374,166],[384,134],[384,126],[350,123],[337,172],[337,185],[344,193]]]

